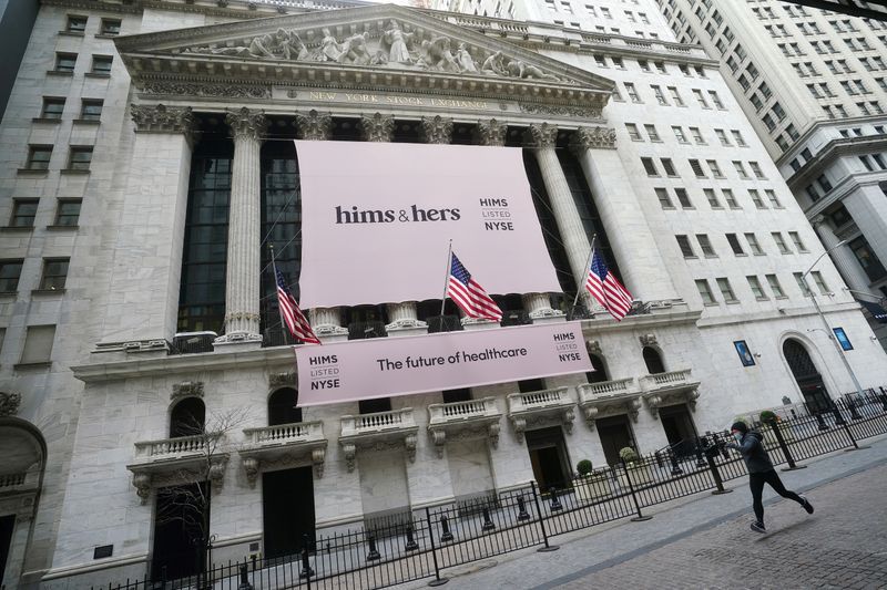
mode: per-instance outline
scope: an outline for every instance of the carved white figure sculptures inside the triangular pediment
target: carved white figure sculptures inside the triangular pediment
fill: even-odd
[[[440,34],[419,39],[409,24],[401,25],[394,19],[380,32],[364,31],[341,39],[324,28],[319,39],[306,43],[295,29],[278,28],[274,32],[252,38],[195,45],[181,51],[573,83],[547,73],[537,65],[510,58],[501,51],[469,48],[465,42]]]

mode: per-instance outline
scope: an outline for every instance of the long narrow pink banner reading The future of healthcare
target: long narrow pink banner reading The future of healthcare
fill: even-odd
[[[580,322],[296,346],[298,405],[592,371]]]

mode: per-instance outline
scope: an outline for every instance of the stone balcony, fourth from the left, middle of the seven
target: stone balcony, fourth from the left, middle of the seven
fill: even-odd
[[[499,418],[502,412],[495,397],[430,404],[428,406],[428,434],[437,447],[438,457],[443,456],[447,439],[462,441],[489,438],[493,448],[499,444]]]

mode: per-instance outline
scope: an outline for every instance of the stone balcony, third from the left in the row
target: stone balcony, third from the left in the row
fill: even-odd
[[[345,454],[348,472],[355,467],[358,448],[406,448],[410,462],[416,460],[416,434],[419,427],[411,407],[341,416],[339,445]]]

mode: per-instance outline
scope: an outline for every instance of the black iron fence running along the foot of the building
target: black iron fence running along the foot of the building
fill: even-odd
[[[774,464],[788,464],[887,434],[887,392],[868,390],[843,396],[827,413],[754,424]],[[633,463],[606,467],[573,479],[568,489],[540,490],[536,483],[448,505],[405,509],[371,527],[318,535],[299,555],[214,565],[198,577],[128,580],[109,590],[265,590],[282,588],[369,589],[431,579],[443,583],[447,568],[539,547],[554,550],[551,538],[603,522],[644,520],[643,509],[684,496],[725,493],[723,482],[746,475],[730,434],[706,433],[694,453],[659,452]],[[406,515],[406,516],[405,516]],[[105,588],[105,587],[102,587]],[[99,590],[99,589],[95,589]]]

